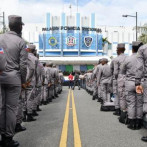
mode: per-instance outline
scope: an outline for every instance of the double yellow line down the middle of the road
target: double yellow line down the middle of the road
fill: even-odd
[[[73,114],[73,132],[74,132],[74,147],[82,147],[79,125],[77,120],[76,106],[74,101],[74,94],[72,90],[69,90],[63,129],[61,134],[60,146],[67,147],[67,138],[68,138],[68,123],[69,123],[69,110],[70,110],[70,99],[72,98],[72,114]]]

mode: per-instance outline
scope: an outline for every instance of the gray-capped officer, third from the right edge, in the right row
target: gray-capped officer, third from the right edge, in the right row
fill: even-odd
[[[117,80],[118,101],[120,103],[121,116],[119,122],[125,123],[126,119],[126,97],[125,97],[125,75],[121,73],[123,63],[127,56],[124,54],[125,44],[120,43],[117,46],[117,54],[119,56],[114,62],[114,76]]]

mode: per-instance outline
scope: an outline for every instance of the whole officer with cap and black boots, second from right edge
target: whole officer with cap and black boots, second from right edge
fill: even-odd
[[[143,117],[143,97],[142,94],[136,93],[135,74],[137,63],[137,51],[143,44],[141,42],[132,43],[132,55],[128,57],[122,67],[122,74],[126,75],[125,92],[127,101],[127,111],[129,118],[128,128],[140,129]]]

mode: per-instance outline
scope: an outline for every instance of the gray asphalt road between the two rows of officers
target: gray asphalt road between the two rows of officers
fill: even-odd
[[[74,97],[72,92],[70,93],[67,107],[68,94],[69,89],[65,87],[59,98],[47,106],[41,106],[43,111],[39,112],[37,121],[23,123],[27,131],[15,135],[20,147],[59,147],[62,136],[66,136],[66,131],[67,138],[63,137],[63,141],[67,140],[67,147],[74,147],[75,140],[80,140],[82,147],[147,146],[147,143],[140,140],[143,135],[147,135],[147,130],[127,129],[118,122],[112,112],[100,112],[100,104],[92,101],[89,94],[84,90],[79,91],[77,87],[73,92]],[[64,119],[65,112],[69,112],[67,120]]]

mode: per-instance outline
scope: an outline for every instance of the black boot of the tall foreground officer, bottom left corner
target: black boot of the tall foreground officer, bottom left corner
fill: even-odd
[[[18,147],[19,143],[15,140],[13,140],[12,137],[6,137],[4,147]]]

